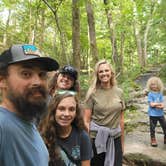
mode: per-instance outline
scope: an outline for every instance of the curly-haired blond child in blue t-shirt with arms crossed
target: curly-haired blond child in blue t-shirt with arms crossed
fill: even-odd
[[[150,136],[151,136],[151,146],[157,147],[157,141],[155,138],[155,128],[157,122],[159,121],[163,133],[164,133],[164,144],[166,144],[166,121],[164,118],[164,103],[163,103],[163,83],[158,77],[151,77],[147,81],[148,93],[148,114],[150,120]]]

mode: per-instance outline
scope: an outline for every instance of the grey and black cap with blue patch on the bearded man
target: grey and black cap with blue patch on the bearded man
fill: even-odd
[[[53,71],[59,68],[56,60],[43,56],[36,46],[30,44],[13,45],[0,55],[0,62],[6,65],[29,60],[41,62],[47,71]]]

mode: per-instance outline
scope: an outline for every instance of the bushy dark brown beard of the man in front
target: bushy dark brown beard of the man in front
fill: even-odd
[[[35,92],[41,93],[41,97],[33,98]],[[15,106],[22,118],[34,120],[47,110],[48,93],[44,87],[32,87],[24,91],[23,94],[18,94],[12,88],[8,89],[7,98]]]

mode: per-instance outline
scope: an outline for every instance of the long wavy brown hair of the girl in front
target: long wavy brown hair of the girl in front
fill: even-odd
[[[60,135],[59,126],[55,120],[55,114],[59,103],[67,97],[74,97],[76,101],[76,117],[72,122],[72,126],[75,126],[79,130],[85,129],[83,122],[82,110],[79,106],[76,95],[70,93],[70,91],[64,94],[56,94],[49,105],[49,112],[45,119],[39,125],[39,130],[41,135],[47,145],[49,155],[50,155],[50,166],[61,166],[60,160],[60,148],[57,145],[57,137]]]

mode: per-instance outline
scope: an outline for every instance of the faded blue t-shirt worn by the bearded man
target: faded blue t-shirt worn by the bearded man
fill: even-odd
[[[0,165],[48,166],[49,154],[34,123],[0,107]]]

